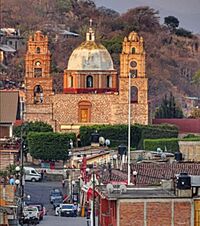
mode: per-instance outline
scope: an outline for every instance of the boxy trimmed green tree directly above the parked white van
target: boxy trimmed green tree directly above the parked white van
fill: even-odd
[[[41,160],[67,160],[70,139],[75,142],[75,134],[54,132],[30,132],[28,146],[30,154]]]

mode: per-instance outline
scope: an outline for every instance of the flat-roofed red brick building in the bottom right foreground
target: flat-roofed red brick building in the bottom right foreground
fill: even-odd
[[[178,197],[162,188],[128,188],[99,192],[100,226],[197,226],[199,199]]]

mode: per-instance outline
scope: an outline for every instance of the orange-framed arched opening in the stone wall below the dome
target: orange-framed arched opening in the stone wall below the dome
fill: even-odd
[[[78,104],[78,122],[88,123],[91,122],[91,107],[89,101],[81,101]]]

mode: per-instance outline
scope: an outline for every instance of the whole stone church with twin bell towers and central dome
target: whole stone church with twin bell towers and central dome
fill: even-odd
[[[83,125],[127,124],[130,107],[132,124],[148,124],[144,40],[131,32],[122,45],[118,75],[90,24],[86,40],[74,49],[64,70],[63,93],[55,94],[48,37],[37,31],[25,56],[25,121],[78,132]]]

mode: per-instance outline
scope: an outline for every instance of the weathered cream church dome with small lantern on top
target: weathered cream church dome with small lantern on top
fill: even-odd
[[[108,50],[95,42],[93,30],[86,34],[86,41],[78,46],[68,61],[68,70],[114,70],[113,61]]]

